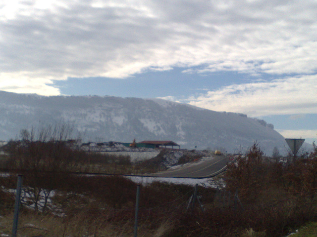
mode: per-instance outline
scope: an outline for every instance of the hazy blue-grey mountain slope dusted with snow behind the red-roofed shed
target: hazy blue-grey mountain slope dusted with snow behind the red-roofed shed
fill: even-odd
[[[99,96],[38,96],[0,91],[0,140],[18,138],[39,122],[73,122],[84,140],[172,140],[181,148],[249,148],[255,141],[271,155],[286,151],[271,124],[246,115],[214,112],[159,99]]]

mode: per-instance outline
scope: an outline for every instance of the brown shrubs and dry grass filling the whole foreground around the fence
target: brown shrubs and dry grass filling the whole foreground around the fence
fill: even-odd
[[[0,233],[10,234],[13,195],[7,190],[15,188],[18,171],[24,174],[23,190],[29,192],[22,202],[19,235],[132,236],[136,184],[120,176],[70,173],[107,162],[61,144],[11,144],[6,164],[15,169],[0,177]],[[193,187],[142,186],[138,237],[281,237],[317,220],[316,147],[307,158],[283,164],[265,160],[255,143],[228,165],[224,179],[222,191],[198,188],[204,211],[197,202],[186,211]]]

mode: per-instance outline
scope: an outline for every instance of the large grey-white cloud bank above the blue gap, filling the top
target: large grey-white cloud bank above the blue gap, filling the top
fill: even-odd
[[[316,1],[43,2],[0,3],[0,81],[15,79],[26,91],[56,94],[52,79],[125,78],[175,66],[205,65],[197,73],[317,71]],[[11,91],[21,90],[15,86]]]

